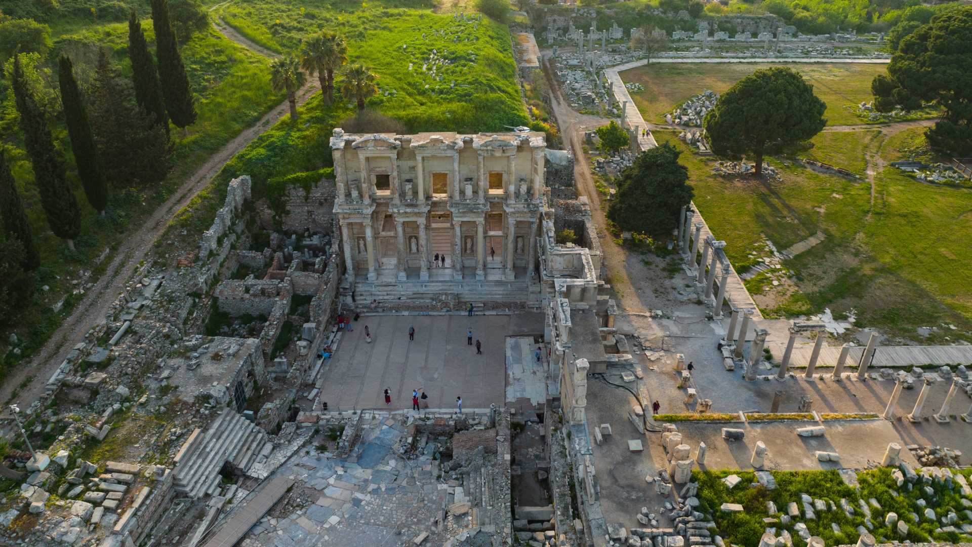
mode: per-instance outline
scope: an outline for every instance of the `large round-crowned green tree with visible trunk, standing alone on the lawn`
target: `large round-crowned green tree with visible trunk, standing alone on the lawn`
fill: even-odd
[[[799,73],[775,66],[757,70],[722,93],[703,127],[719,156],[751,156],[756,175],[763,156],[812,138],[823,129],[826,104]]]

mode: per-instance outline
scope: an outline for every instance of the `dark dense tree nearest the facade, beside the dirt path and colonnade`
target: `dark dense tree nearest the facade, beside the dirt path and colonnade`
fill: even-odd
[[[672,233],[681,207],[692,201],[688,169],[678,163],[681,152],[669,143],[645,150],[621,171],[617,195],[608,206],[608,218],[622,230],[652,237]]]

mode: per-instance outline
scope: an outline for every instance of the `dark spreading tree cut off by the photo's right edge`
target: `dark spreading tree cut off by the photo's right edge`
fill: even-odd
[[[928,143],[946,152],[972,154],[972,6],[936,15],[901,39],[887,76],[872,83],[875,107],[920,107],[934,101],[945,112],[925,131]]]

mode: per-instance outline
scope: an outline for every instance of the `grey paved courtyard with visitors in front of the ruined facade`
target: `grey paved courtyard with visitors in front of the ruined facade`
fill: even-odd
[[[364,326],[371,344],[364,342]],[[408,341],[408,327],[415,341]],[[467,345],[482,343],[482,355]],[[424,387],[431,408],[502,407],[505,400],[506,337],[542,334],[539,313],[473,315],[362,315],[324,373],[321,400],[330,411],[386,408],[383,390],[391,387],[392,410],[411,407],[412,389]]]

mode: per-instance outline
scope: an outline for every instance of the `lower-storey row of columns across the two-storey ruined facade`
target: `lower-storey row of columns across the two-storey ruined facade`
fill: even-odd
[[[513,279],[515,277],[514,264],[516,260],[516,255],[518,253],[525,252],[526,263],[527,263],[527,276],[532,277],[535,273],[535,247],[536,245],[533,241],[537,238],[538,229],[538,218],[529,219],[530,229],[529,232],[524,237],[526,241],[522,248],[518,248],[516,239],[516,223],[525,220],[515,217],[506,218],[506,231],[503,235],[503,245],[501,258],[503,261],[503,277],[506,279]],[[406,251],[408,250],[408,243],[405,241],[404,233],[404,223],[405,222],[415,222],[418,224],[419,234],[418,234],[418,254],[419,254],[419,279],[428,280],[429,279],[429,268],[432,266],[433,257],[430,256],[431,253],[429,249],[432,247],[430,242],[430,230],[427,230],[426,218],[396,218],[395,219],[395,230],[396,230],[396,247],[397,247],[397,260],[396,267],[398,269],[397,277],[400,281],[407,280],[407,275],[405,274],[406,265]],[[355,265],[355,254],[352,252],[352,225],[355,223],[360,223],[364,225],[364,254],[367,258],[367,279],[369,281],[374,281],[378,278],[379,261],[377,253],[377,241],[375,241],[374,229],[370,218],[367,219],[355,219],[346,220],[341,219],[341,241],[344,247],[344,260],[345,264],[348,265],[347,273],[353,279],[354,272],[356,270]],[[486,221],[484,218],[476,219],[453,219],[450,224],[452,227],[453,237],[449,261],[451,262],[450,269],[452,271],[453,279],[463,278],[463,240],[464,237],[469,237],[469,235],[464,235],[462,231],[463,222],[475,222],[476,224],[476,235],[475,235],[475,276],[476,279],[485,279],[486,277]],[[361,252],[362,249],[359,249]],[[443,264],[445,262],[445,257],[443,256]]]

